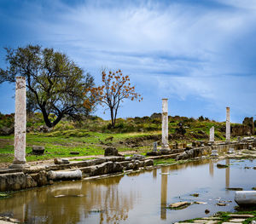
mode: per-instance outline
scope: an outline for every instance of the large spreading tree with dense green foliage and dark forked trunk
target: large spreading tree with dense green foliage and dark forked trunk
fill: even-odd
[[[0,83],[26,77],[27,110],[41,111],[48,127],[54,127],[65,116],[79,118],[93,110],[92,97],[84,89],[93,87],[94,78],[84,75],[67,55],[38,45],[6,52],[8,66],[0,69]],[[84,107],[84,101],[90,102],[90,108]]]

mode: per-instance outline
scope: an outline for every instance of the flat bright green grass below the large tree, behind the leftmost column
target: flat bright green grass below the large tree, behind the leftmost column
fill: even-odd
[[[81,129],[54,131],[50,133],[28,133],[26,135],[26,160],[37,161],[51,158],[71,158],[80,156],[94,156],[104,154],[103,144],[111,143],[117,146],[119,152],[135,150],[120,144],[127,139],[142,137],[145,135],[158,135],[158,133],[125,133],[106,134],[91,132]],[[113,141],[106,141],[113,137]],[[32,146],[44,146],[44,155],[32,155]],[[149,150],[147,146],[137,147],[138,153],[145,153]],[[79,152],[79,155],[71,155],[70,152]],[[14,135],[0,136],[0,163],[11,163],[14,159]]]

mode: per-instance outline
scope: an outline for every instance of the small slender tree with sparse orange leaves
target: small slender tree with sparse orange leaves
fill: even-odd
[[[129,76],[124,76],[121,70],[102,71],[102,85],[90,88],[90,92],[95,101],[108,106],[113,128],[121,102],[125,99],[143,101],[142,95],[135,92],[135,86],[131,86]]]

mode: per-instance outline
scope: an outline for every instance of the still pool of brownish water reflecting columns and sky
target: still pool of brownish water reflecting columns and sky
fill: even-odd
[[[15,192],[0,199],[0,215],[24,223],[172,223],[212,215],[219,210],[234,211],[234,191],[256,187],[255,160],[229,160],[218,169],[211,160],[195,161],[108,177],[102,180],[61,182]],[[249,167],[250,169],[245,169]],[[199,197],[190,194],[199,193]],[[231,201],[220,207],[218,201]],[[167,204],[200,201],[183,210],[168,210]],[[205,214],[205,210],[210,210]]]

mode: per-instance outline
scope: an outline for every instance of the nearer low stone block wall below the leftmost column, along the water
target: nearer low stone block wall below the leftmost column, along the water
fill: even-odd
[[[146,166],[154,165],[153,159],[132,159],[124,157],[105,157],[96,158],[87,161],[71,162],[70,164],[59,164],[52,166],[38,166],[27,169],[6,169],[1,170],[0,174],[0,192],[18,191],[31,187],[41,187],[52,184],[51,173],[53,170],[61,171],[81,170],[83,177],[95,175],[108,175],[123,172],[125,169],[140,169]],[[16,171],[16,172],[15,172]],[[63,172],[62,172],[63,173]],[[64,176],[63,180],[73,180]],[[63,181],[59,178],[56,181]]]

